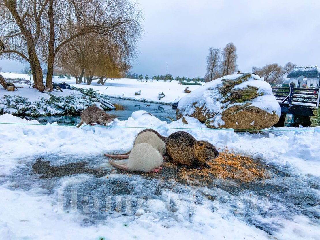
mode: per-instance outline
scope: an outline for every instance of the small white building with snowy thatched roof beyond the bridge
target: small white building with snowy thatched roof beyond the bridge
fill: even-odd
[[[288,74],[289,83],[295,83],[295,87],[319,87],[320,68],[312,67],[297,67],[292,69]]]

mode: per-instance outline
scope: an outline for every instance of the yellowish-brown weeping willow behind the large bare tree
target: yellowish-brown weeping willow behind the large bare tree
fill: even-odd
[[[76,78],[76,84],[93,80],[104,85],[107,78],[119,78],[130,69],[130,52],[90,34],[67,44],[57,55],[59,68]]]

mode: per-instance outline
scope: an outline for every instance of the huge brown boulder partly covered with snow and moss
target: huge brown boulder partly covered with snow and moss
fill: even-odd
[[[181,98],[177,119],[192,116],[209,128],[260,130],[279,121],[281,109],[270,84],[257,75],[215,79]]]

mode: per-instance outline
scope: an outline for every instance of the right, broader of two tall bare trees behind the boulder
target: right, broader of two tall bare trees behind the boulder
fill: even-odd
[[[237,68],[237,48],[235,44],[228,43],[222,50],[222,60],[220,62],[220,75],[225,76],[232,74]]]

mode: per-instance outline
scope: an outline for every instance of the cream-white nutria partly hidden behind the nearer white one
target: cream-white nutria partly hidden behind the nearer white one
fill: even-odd
[[[160,154],[162,154],[162,156],[165,155],[165,144],[154,132],[141,132],[139,135],[137,135],[136,139],[134,140],[133,147],[137,146],[140,143],[148,143],[153,148],[155,148]],[[128,158],[130,156],[130,151],[123,155],[104,155],[107,157],[114,158]]]

